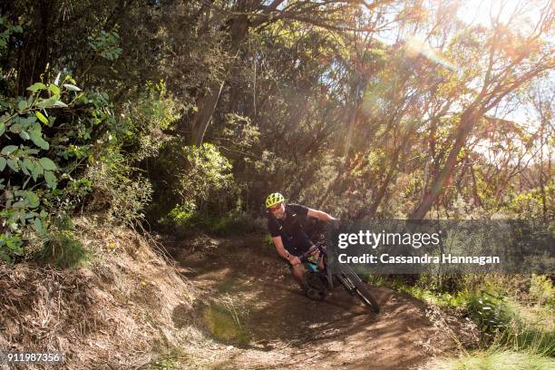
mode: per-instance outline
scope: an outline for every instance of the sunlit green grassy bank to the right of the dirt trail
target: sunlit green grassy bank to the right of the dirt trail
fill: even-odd
[[[555,368],[555,290],[548,277],[466,276],[453,289],[431,277],[370,277],[438,307],[462,309],[481,332],[479,349],[433,363],[435,369]]]

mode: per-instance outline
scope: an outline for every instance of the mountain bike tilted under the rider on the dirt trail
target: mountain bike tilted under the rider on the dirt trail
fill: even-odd
[[[312,256],[316,249],[320,251],[318,258]],[[372,297],[370,290],[352,268],[337,264],[334,267],[334,273],[332,273],[332,269],[327,265],[327,252],[323,246],[313,246],[298,258],[307,266],[307,284],[322,292],[322,300],[334,290],[334,282],[338,282],[351,296],[358,297],[365,306],[372,309],[376,314],[380,312],[380,307],[375,298]],[[318,268],[321,260],[324,261],[324,270]]]

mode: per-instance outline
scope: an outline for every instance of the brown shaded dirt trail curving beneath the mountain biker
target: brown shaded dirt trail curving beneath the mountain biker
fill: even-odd
[[[201,297],[228,302],[248,335],[215,348],[213,368],[406,369],[453,348],[449,330],[433,325],[423,302],[389,288],[371,287],[378,315],[340,287],[324,302],[307,299],[261,240],[209,239],[177,253]],[[206,320],[206,307],[203,312]]]

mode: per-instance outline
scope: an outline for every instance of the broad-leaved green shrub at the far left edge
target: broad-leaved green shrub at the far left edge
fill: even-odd
[[[6,185],[3,181],[0,183],[5,202],[0,214],[8,229],[5,239],[21,238],[26,227],[44,234],[52,206],[62,195],[59,181],[63,180],[66,185],[73,180],[70,175],[73,169],[70,162],[65,161],[68,158],[60,155],[63,151],[61,143],[71,142],[73,135],[51,128],[58,126],[55,112],[63,108],[75,109],[83,104],[85,97],[83,94],[70,96],[77,89],[69,84],[74,83],[70,77],[63,82],[61,87],[55,83],[48,86],[34,83],[27,89],[30,92],[28,98],[0,97],[0,171],[10,179]],[[55,134],[48,138],[46,132]],[[7,246],[7,243],[0,246],[0,250],[4,248],[3,259],[11,260],[20,254],[18,249],[5,249]]]

